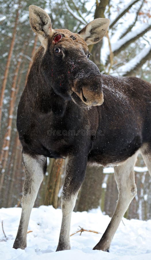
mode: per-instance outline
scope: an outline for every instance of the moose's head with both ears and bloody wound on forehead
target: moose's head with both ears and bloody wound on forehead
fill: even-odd
[[[29,7],[29,18],[44,48],[41,69],[53,91],[81,107],[101,105],[102,76],[89,60],[87,45],[103,38],[109,19],[95,19],[78,33],[72,33],[67,29],[52,29],[49,15],[35,5]]]

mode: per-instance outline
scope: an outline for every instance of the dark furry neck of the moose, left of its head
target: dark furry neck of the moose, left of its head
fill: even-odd
[[[28,75],[26,84],[28,104],[32,106],[32,109],[34,107],[35,112],[47,114],[52,111],[56,116],[62,117],[68,101],[51,87],[49,77],[47,78],[44,73],[43,51],[43,47],[37,51]],[[50,68],[49,71],[51,71]]]

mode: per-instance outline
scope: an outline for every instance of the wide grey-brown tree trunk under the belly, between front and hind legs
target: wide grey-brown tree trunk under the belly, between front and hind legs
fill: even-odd
[[[74,211],[88,211],[100,206],[103,168],[87,166],[85,179],[78,194]]]

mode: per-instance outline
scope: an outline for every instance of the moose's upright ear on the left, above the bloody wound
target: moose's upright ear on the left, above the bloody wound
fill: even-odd
[[[41,42],[51,34],[51,19],[40,7],[36,5],[29,6],[29,21],[32,30],[35,34],[38,34]]]

